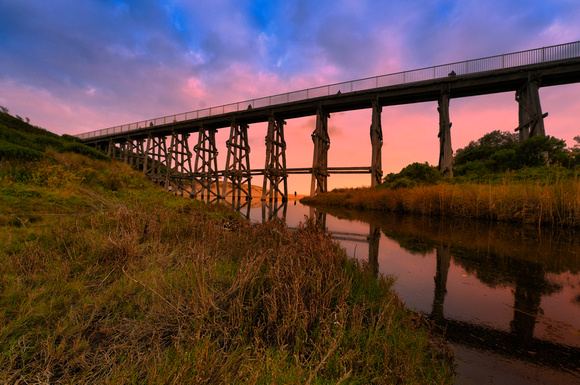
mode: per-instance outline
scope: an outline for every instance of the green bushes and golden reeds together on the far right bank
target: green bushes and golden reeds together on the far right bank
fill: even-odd
[[[413,163],[375,188],[337,189],[302,201],[355,209],[580,226],[580,136],[517,138],[494,131],[457,151],[453,179]],[[546,162],[552,162],[550,166]],[[564,167],[566,166],[566,167]]]

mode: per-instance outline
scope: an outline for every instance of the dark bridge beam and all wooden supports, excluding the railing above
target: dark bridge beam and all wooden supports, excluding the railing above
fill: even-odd
[[[534,64],[509,69],[456,75],[444,78],[341,93],[282,103],[262,108],[248,108],[232,113],[174,121],[154,127],[141,127],[123,133],[101,135],[83,140],[101,151],[143,171],[167,190],[188,194],[208,202],[219,199],[245,204],[253,198],[252,178],[263,177],[261,199],[288,199],[288,175],[308,173],[312,176],[310,194],[324,193],[332,173],[368,173],[370,184],[382,180],[381,149],[383,144],[381,113],[383,107],[436,101],[439,115],[439,170],[453,175],[451,119],[449,104],[454,98],[514,92],[518,105],[520,140],[545,135],[540,104],[540,87],[580,82],[580,58]],[[328,119],[342,111],[370,109],[371,153],[368,167],[329,167],[330,137]],[[311,168],[288,168],[284,126],[286,120],[316,116],[312,133],[314,153]],[[264,169],[250,166],[249,125],[268,122]],[[227,160],[224,170],[217,168],[218,151],[215,132],[230,128]],[[190,136],[197,134],[193,152]],[[194,162],[192,167],[192,161]]]

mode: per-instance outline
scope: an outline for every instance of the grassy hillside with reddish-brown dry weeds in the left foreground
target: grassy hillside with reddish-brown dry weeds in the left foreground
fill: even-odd
[[[0,382],[452,382],[392,280],[315,226],[251,225],[6,128],[28,155],[0,160]]]

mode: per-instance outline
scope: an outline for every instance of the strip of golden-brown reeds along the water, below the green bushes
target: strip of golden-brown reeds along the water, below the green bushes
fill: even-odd
[[[439,183],[412,188],[336,189],[305,204],[420,215],[580,227],[580,182]]]

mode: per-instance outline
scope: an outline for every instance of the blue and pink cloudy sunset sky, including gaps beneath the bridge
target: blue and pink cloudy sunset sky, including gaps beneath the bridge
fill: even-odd
[[[0,0],[0,105],[57,134],[580,40],[577,0]],[[546,132],[580,135],[580,85],[540,89]],[[453,149],[518,126],[513,93],[452,99]],[[371,111],[332,114],[328,165],[370,166]],[[314,117],[285,127],[311,167]],[[437,165],[435,102],[383,108],[383,171]],[[218,132],[220,168],[228,129]],[[249,128],[263,168],[265,124]],[[253,183],[261,185],[262,181]],[[370,184],[331,175],[329,188]],[[308,175],[289,178],[308,193]]]

